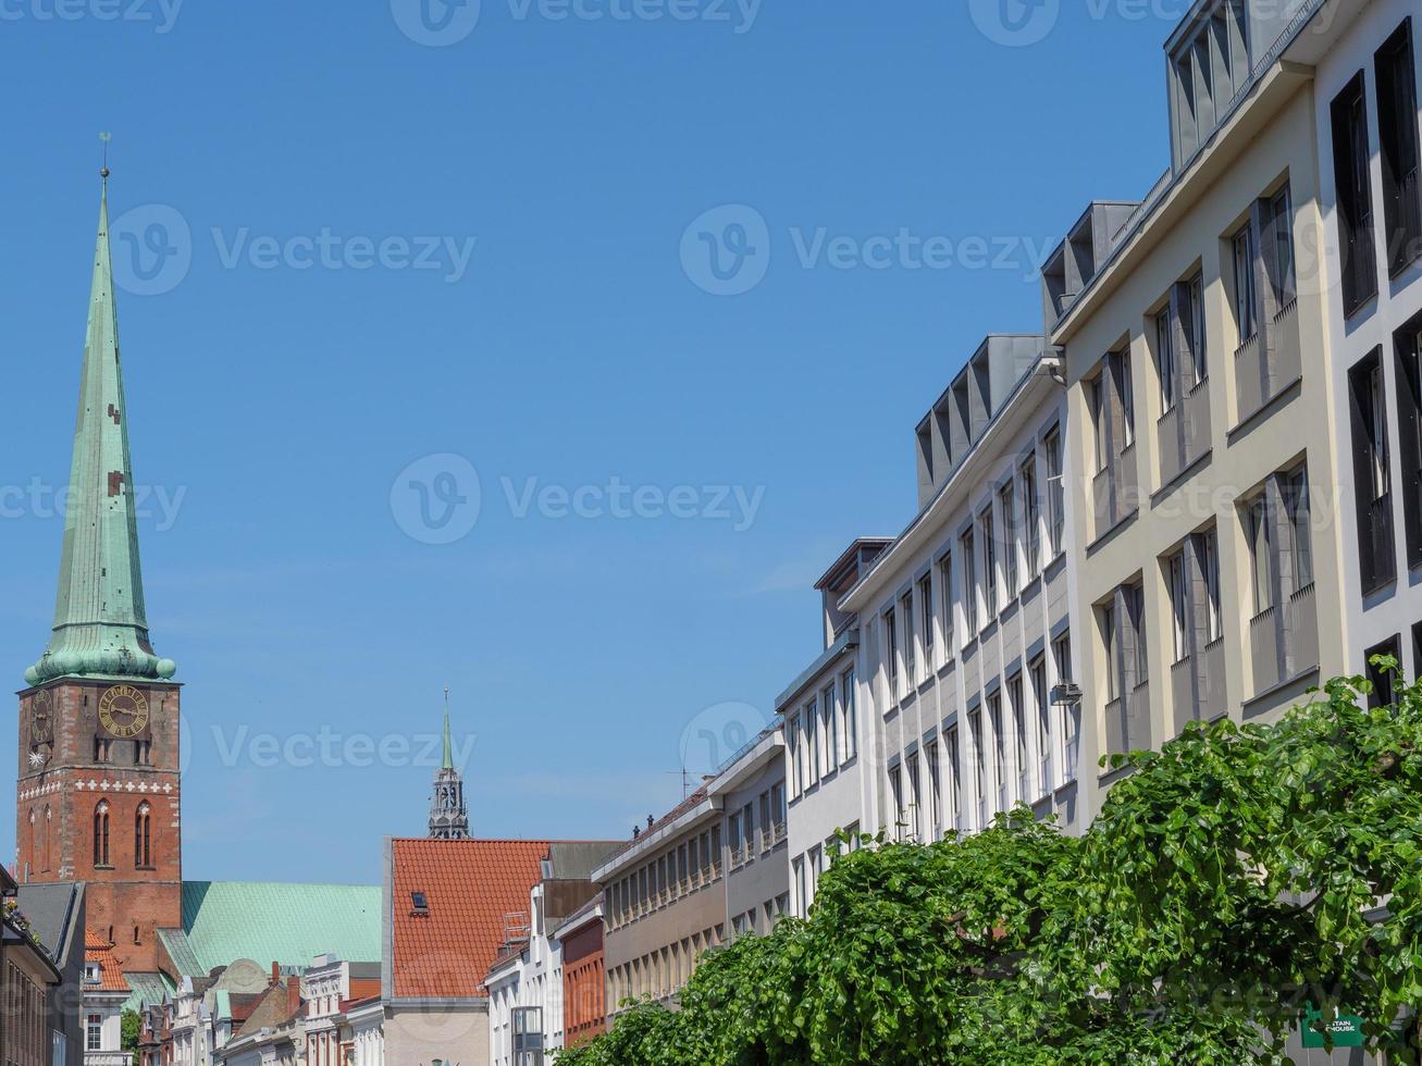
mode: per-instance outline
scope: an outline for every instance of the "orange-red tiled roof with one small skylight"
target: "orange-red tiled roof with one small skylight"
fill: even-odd
[[[394,996],[488,995],[482,982],[505,941],[503,920],[528,915],[547,847],[547,840],[392,840]],[[414,914],[411,893],[425,894],[428,914]]]

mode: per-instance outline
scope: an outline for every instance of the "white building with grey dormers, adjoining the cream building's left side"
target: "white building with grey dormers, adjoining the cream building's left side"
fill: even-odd
[[[990,337],[919,426],[920,512],[839,605],[859,618],[870,823],[1079,829],[1066,404],[1041,337]]]

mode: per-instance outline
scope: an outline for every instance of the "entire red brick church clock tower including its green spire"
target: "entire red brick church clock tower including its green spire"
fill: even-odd
[[[152,972],[156,930],[182,925],[179,687],[144,610],[104,179],[54,632],[20,692],[16,877],[85,881],[90,931]]]

